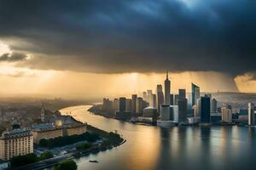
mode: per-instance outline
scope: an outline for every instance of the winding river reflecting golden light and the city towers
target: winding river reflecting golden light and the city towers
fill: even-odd
[[[87,111],[90,105],[61,110],[127,140],[113,150],[77,160],[86,170],[256,169],[256,129],[247,127],[161,128],[119,122]],[[90,163],[89,160],[99,163]]]

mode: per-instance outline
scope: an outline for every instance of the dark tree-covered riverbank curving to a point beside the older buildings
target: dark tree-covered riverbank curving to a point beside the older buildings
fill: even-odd
[[[79,121],[79,120],[77,120]],[[118,147],[121,144],[125,144],[126,140],[121,137],[117,132],[106,132],[100,128],[91,126],[87,124],[87,132],[91,134],[96,134],[100,139],[97,141],[90,143],[90,141],[81,141],[76,144],[68,144],[63,147],[53,148],[51,150],[58,150],[58,155],[55,155],[52,158],[37,162],[26,164],[20,167],[12,167],[11,169],[33,169],[39,170],[49,167],[54,167],[59,164],[61,161],[65,160],[73,160],[82,156],[89,156],[90,154],[96,154],[98,152],[102,152],[105,150],[111,150],[115,147]],[[77,135],[79,137],[79,135]],[[88,147],[84,147],[84,145],[88,144]],[[49,150],[48,148],[44,148],[43,152]],[[50,151],[50,150],[49,150]]]

